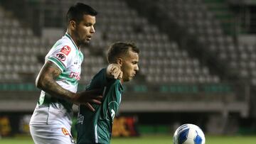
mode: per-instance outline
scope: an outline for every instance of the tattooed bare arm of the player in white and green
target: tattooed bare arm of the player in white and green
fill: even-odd
[[[72,99],[75,93],[63,89],[60,85],[55,82],[55,79],[61,74],[60,68],[53,62],[46,62],[43,65],[41,72],[38,74],[37,84],[38,87],[43,89],[52,96],[58,96],[65,99]]]

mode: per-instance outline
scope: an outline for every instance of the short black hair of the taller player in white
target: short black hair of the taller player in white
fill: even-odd
[[[77,3],[70,7],[67,13],[67,23],[70,21],[75,21],[76,23],[80,23],[82,21],[82,17],[84,15],[96,16],[97,11],[93,9],[91,6],[86,4]]]

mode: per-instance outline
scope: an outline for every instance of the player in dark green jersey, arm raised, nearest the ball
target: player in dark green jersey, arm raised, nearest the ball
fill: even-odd
[[[113,43],[107,52],[107,61],[119,65],[122,78],[107,78],[106,72],[111,70],[106,69],[92,78],[86,90],[102,89],[102,104],[92,104],[94,112],[79,106],[78,144],[110,143],[112,123],[122,99],[122,84],[133,79],[139,71],[139,49],[133,43]]]

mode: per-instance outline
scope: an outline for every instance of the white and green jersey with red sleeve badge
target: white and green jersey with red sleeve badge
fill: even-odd
[[[50,49],[46,55],[46,62],[48,60],[54,62],[61,70],[60,76],[55,80],[60,87],[68,89],[70,92],[77,92],[83,55],[68,33],[65,33],[63,38]],[[38,104],[31,116],[30,126],[59,126],[70,131],[73,116],[72,106],[70,101],[58,99],[41,91]],[[53,129],[50,128],[49,131],[53,131]],[[42,135],[46,135],[46,133],[42,133]]]

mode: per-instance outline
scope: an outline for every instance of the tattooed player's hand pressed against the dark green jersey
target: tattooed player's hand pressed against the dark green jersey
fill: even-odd
[[[91,104],[101,104],[103,98],[101,93],[102,91],[100,89],[80,92],[73,101],[75,104],[85,105],[91,111],[95,111]]]

